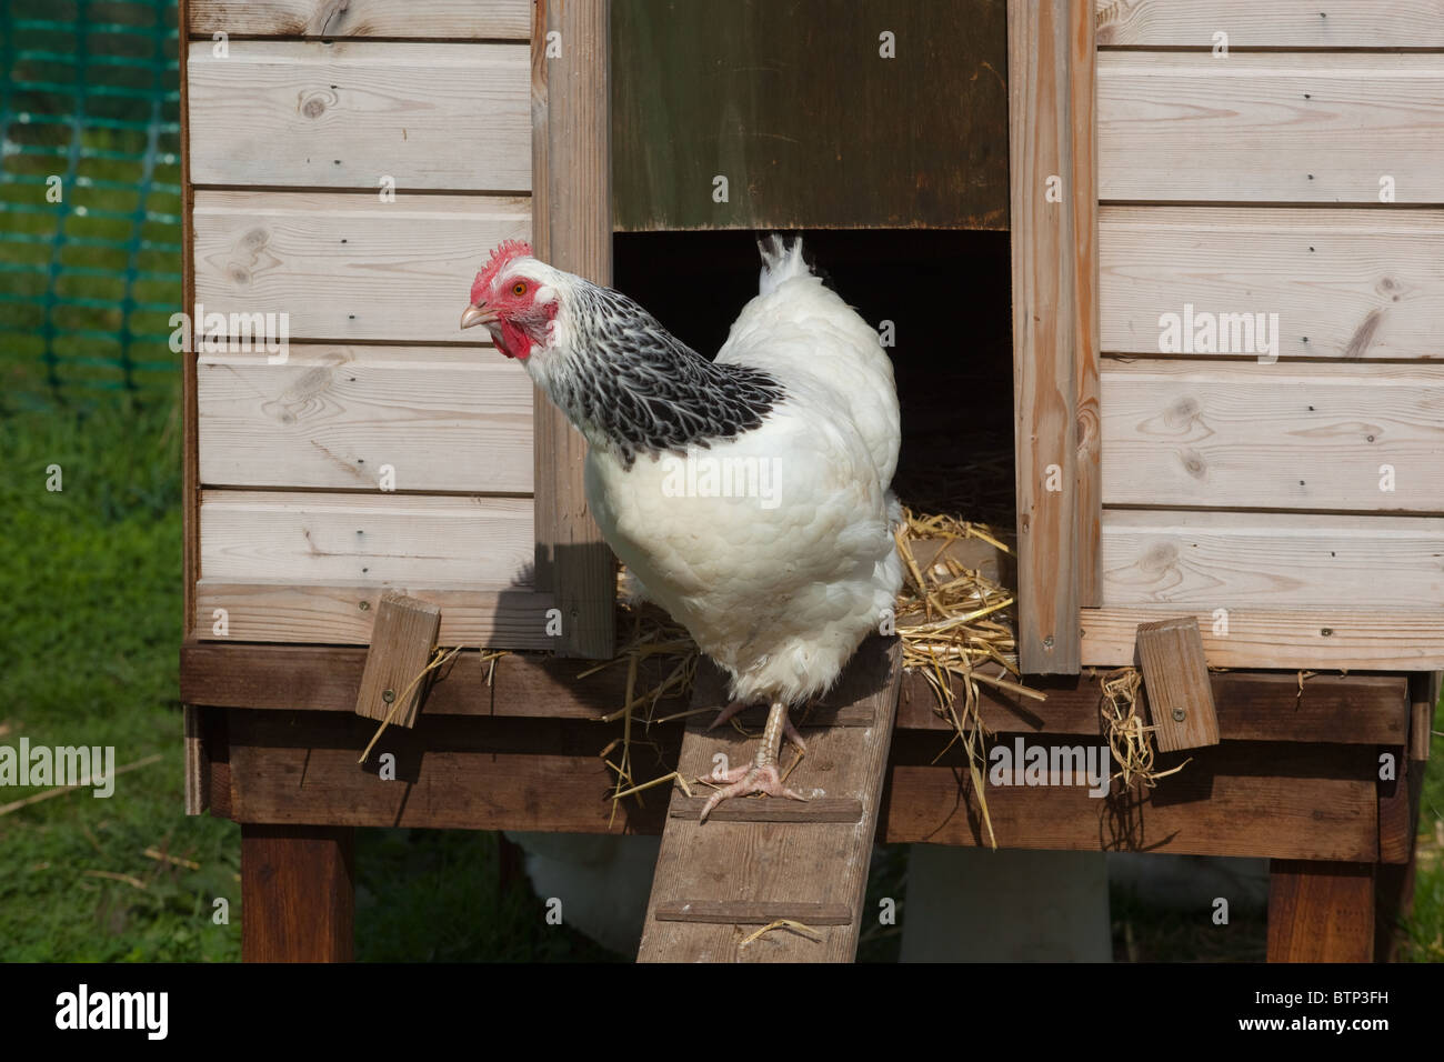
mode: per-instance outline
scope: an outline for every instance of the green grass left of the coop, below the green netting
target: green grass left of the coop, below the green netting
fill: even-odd
[[[180,813],[175,406],[4,418],[0,458],[0,741],[114,746],[117,766],[160,756],[116,779],[110,799],[78,790],[0,816],[0,958],[235,958],[235,826]],[[59,491],[46,488],[52,465]],[[39,790],[0,792],[9,803]],[[230,925],[212,923],[215,897]]]

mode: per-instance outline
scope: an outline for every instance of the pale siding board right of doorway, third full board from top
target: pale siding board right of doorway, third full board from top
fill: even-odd
[[[1109,358],[1102,393],[1108,506],[1444,513],[1444,364]]]

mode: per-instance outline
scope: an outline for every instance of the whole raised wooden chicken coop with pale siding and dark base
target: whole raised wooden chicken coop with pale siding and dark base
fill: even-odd
[[[186,795],[241,824],[247,958],[351,954],[357,826],[663,834],[644,958],[735,958],[734,925],[797,910],[825,946],[773,957],[848,958],[874,837],[986,844],[887,639],[823,712],[820,760],[861,764],[826,822],[605,799],[622,724],[596,718],[630,686],[593,672],[617,579],[585,444],[456,319],[529,238],[712,351],[768,228],[895,325],[904,501],[1011,448],[1047,699],[983,686],[996,740],[1097,741],[1099,669],[1197,624],[1160,681],[1213,730],[1187,769],[992,790],[998,842],[1269,857],[1272,958],[1385,955],[1444,669],[1444,4],[686,9],[180,3]],[[245,342],[266,315],[284,353]],[[381,644],[388,591],[439,626]],[[358,698],[433,642],[465,652],[386,731],[390,774],[360,766]],[[657,774],[703,747],[651,738]],[[687,893],[669,851],[744,829],[845,852],[852,892]],[[673,932],[697,919],[709,944]]]

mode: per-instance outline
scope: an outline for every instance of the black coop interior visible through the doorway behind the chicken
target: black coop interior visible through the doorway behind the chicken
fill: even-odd
[[[1012,305],[1006,231],[804,230],[809,257],[878,327],[902,409],[894,490],[920,513],[1011,530]],[[757,295],[748,231],[618,233],[614,286],[706,357]]]

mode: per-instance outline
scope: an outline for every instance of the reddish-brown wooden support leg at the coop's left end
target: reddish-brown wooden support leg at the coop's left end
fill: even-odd
[[[355,831],[241,824],[241,958],[349,962]]]

